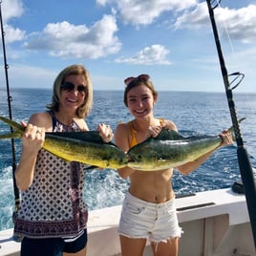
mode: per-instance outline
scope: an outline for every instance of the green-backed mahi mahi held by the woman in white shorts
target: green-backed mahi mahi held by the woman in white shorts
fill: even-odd
[[[244,119],[241,118],[239,122]],[[228,131],[232,133],[233,127]],[[184,138],[175,131],[162,129],[158,137],[146,139],[127,152],[131,159],[128,166],[140,171],[158,171],[178,167],[215,150],[222,142],[220,136]]]

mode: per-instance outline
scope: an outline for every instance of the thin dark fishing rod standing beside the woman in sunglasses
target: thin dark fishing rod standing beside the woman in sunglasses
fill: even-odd
[[[5,47],[5,32],[4,32],[4,26],[3,26],[1,5],[2,5],[2,1],[0,1],[0,24],[1,24],[1,35],[2,35],[3,55],[4,55],[4,64],[5,64],[5,76],[6,76],[6,84],[7,84],[8,109],[9,109],[9,117],[11,119],[12,118],[12,115],[11,115],[12,97],[10,94],[10,87],[9,87],[9,78],[8,78],[9,66],[7,64],[6,47]],[[12,132],[12,128],[11,128],[11,132]],[[15,175],[14,175],[15,170],[16,170],[14,139],[11,139],[11,152],[12,152],[12,181],[13,181],[13,190],[14,190],[14,198],[15,198],[15,211],[13,212],[12,219],[14,219],[15,214],[20,206],[19,190],[17,188],[16,181],[15,181]]]

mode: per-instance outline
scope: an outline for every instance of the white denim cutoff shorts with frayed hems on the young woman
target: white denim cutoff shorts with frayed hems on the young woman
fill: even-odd
[[[167,242],[181,237],[175,200],[166,203],[148,203],[129,192],[122,203],[118,226],[119,235],[144,238],[151,243]]]

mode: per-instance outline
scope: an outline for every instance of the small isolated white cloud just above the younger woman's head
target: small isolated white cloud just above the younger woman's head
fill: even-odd
[[[152,45],[141,50],[137,55],[128,58],[117,58],[117,63],[143,64],[143,65],[170,65],[166,59],[169,51],[161,45]]]

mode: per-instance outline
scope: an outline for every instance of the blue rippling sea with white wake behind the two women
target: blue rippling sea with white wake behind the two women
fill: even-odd
[[[12,118],[18,122],[28,120],[35,112],[45,110],[51,101],[50,89],[11,89]],[[246,117],[240,129],[245,148],[255,172],[256,167],[256,94],[233,93],[239,118]],[[9,117],[7,92],[0,88],[0,116]],[[155,116],[172,119],[183,136],[218,135],[231,126],[231,117],[224,93],[160,92],[155,106]],[[123,104],[121,91],[96,91],[94,108],[87,123],[91,130],[99,122],[110,124],[131,119]],[[0,134],[10,131],[0,121]],[[16,160],[20,155],[20,140],[15,139]],[[254,174],[255,175],[255,174]],[[230,187],[240,180],[236,144],[218,150],[193,173],[174,174],[173,186],[177,194],[194,193]],[[90,170],[86,176],[84,198],[90,210],[121,204],[128,181],[118,177],[115,170]],[[14,210],[11,169],[11,140],[0,139],[0,230],[11,228]]]

